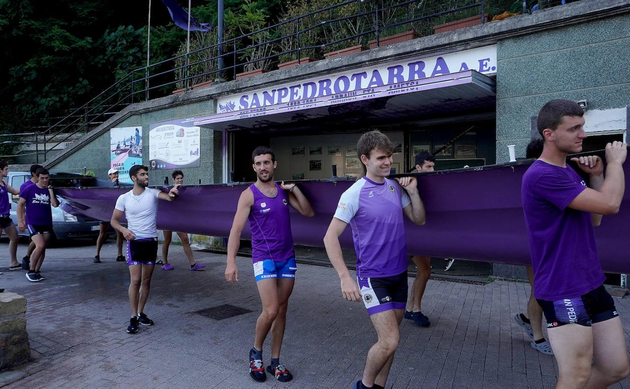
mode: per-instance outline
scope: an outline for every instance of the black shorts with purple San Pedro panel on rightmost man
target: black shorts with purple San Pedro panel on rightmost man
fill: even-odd
[[[576,323],[590,327],[592,323],[605,322],[619,316],[615,301],[604,285],[578,297],[548,301],[536,299],[547,319],[547,328]]]

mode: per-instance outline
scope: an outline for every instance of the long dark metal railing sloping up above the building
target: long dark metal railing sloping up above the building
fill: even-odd
[[[547,0],[541,0],[544,1]],[[556,0],[547,3],[552,1]],[[317,58],[348,44],[363,47],[369,38],[373,38],[372,45],[379,47],[386,34],[413,30],[416,36],[430,35],[438,24],[474,16],[478,16],[479,23],[485,23],[490,13],[498,15],[514,8],[514,4],[519,10],[530,11],[528,3],[531,1],[523,0],[520,8],[520,0],[347,0],[287,18],[276,25],[130,71],[38,134],[44,145],[36,154],[37,161],[45,161],[50,150],[105,122],[130,103],[170,95],[176,89],[188,91],[203,81],[237,79],[238,73],[253,67],[268,70],[287,59],[301,64],[303,55]],[[343,15],[348,12],[351,14]],[[220,57],[227,62],[222,69],[218,67]]]

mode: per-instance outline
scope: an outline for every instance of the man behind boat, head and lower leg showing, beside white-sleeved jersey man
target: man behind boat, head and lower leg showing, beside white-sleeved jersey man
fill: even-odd
[[[435,156],[427,150],[421,150],[416,155],[416,171],[433,171],[435,168]],[[427,282],[431,276],[431,258],[425,255],[414,255],[411,257],[413,264],[416,265],[416,278],[411,284],[411,293],[407,301],[407,307],[404,311],[404,318],[413,320],[420,327],[428,327],[431,325],[429,318],[422,314],[421,303],[422,296],[427,288]]]

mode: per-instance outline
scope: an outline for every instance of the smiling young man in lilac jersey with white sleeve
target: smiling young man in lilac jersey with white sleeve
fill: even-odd
[[[425,224],[414,177],[389,180],[394,146],[379,131],[363,134],[357,154],[365,177],[339,200],[324,245],[341,280],[341,293],[350,301],[363,300],[378,341],[367,353],[362,380],[355,388],[384,388],[400,340],[399,325],[407,302],[407,247],[403,215]],[[404,190],[403,190],[404,188]],[[339,236],[350,224],[357,251],[357,278],[343,262]],[[358,284],[358,285],[357,285]]]

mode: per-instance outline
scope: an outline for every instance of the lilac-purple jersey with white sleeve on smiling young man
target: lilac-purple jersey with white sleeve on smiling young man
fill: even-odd
[[[343,192],[335,218],[349,223],[357,277],[390,277],[407,270],[403,208],[411,204],[398,182],[363,177]]]

